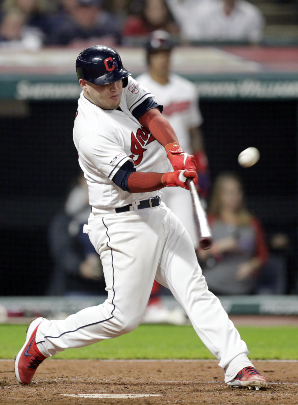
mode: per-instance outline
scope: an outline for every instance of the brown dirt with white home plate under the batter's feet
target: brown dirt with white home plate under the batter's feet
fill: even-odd
[[[20,385],[13,360],[0,361],[0,403],[298,404],[298,362],[253,362],[268,379],[266,391],[229,388],[213,360],[55,360]]]

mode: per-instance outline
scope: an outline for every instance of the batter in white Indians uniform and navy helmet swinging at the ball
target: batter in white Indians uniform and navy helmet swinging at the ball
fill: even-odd
[[[188,233],[155,196],[165,185],[185,188],[186,177],[197,181],[193,156],[178,145],[162,107],[130,77],[114,49],[87,48],[76,67],[83,91],[73,136],[92,205],[84,231],[100,254],[108,297],[65,320],[34,320],[15,360],[17,380],[29,384],[46,357],[66,348],[136,328],[156,278],[183,306],[225,381],[265,388],[245,342],[206,286]],[[169,161],[174,172],[168,172]]]

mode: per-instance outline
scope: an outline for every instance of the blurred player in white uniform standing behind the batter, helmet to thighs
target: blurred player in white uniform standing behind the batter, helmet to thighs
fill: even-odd
[[[148,71],[136,81],[150,89],[155,100],[164,107],[162,115],[173,127],[179,144],[196,159],[200,196],[206,197],[209,188],[209,173],[206,155],[202,146],[202,115],[198,108],[198,94],[195,85],[187,79],[170,72],[170,58],[173,43],[165,31],[154,31],[146,44]],[[192,200],[190,193],[182,188],[167,188],[162,191],[164,203],[177,215],[198,247]],[[188,207],[189,209],[183,209]]]

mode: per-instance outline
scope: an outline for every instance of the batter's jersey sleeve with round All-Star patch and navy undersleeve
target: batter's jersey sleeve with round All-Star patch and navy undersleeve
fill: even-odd
[[[126,96],[128,110],[132,115],[139,119],[146,111],[152,108],[158,108],[162,112],[162,105],[155,102],[155,97],[146,87],[128,77],[128,85],[123,89]]]

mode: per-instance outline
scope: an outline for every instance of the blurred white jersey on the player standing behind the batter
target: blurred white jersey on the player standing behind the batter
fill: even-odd
[[[153,80],[149,73],[143,73],[136,80],[150,89],[156,101],[163,105],[162,115],[174,128],[182,149],[190,153],[192,150],[189,128],[199,126],[203,122],[198,108],[196,86],[175,73],[170,74],[165,85]]]

